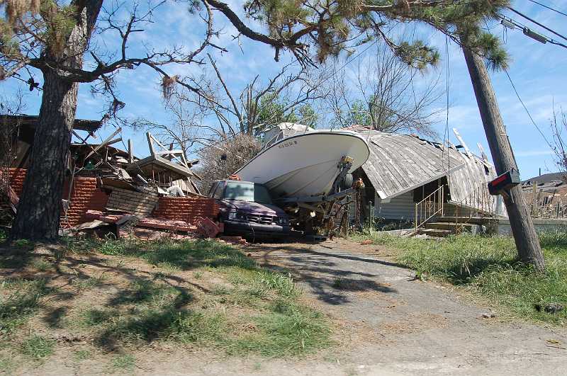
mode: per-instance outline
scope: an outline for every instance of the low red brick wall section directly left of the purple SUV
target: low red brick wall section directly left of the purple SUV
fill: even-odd
[[[215,219],[218,205],[214,198],[160,197],[152,217],[179,220],[190,224],[200,217]]]

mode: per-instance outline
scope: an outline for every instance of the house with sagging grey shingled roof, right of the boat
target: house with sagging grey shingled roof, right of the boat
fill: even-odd
[[[358,125],[348,129],[369,142],[368,161],[353,173],[366,186],[364,217],[370,214],[367,207],[372,203],[376,218],[415,222],[416,204],[441,197],[441,186],[446,217],[459,216],[471,208],[477,214],[503,215],[500,196],[488,193],[487,183],[496,176],[494,166],[485,155],[472,154],[464,142],[447,147],[415,135],[383,133]],[[423,213],[419,217],[425,219]]]

